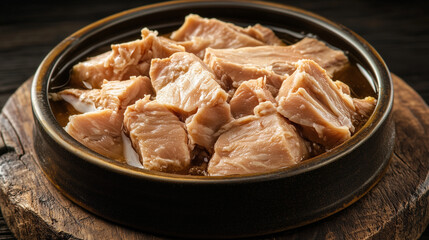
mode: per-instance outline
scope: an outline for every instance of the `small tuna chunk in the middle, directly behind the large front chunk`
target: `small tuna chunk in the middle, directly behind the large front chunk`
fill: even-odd
[[[270,101],[276,103],[273,95],[268,91],[265,78],[243,82],[229,104],[235,118],[253,114],[253,109],[261,102]]]

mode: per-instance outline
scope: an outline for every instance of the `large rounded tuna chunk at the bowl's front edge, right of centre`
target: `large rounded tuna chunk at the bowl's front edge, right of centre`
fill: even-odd
[[[263,173],[289,167],[308,157],[304,139],[271,102],[225,126],[208,166],[212,176]]]

